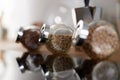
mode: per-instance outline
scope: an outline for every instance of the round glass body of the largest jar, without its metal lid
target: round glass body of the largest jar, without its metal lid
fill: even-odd
[[[119,48],[118,35],[112,24],[94,21],[89,27],[83,48],[92,59],[106,59]]]

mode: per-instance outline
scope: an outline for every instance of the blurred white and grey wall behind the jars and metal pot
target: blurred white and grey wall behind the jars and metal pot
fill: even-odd
[[[0,0],[4,17],[3,25],[9,30],[8,38],[15,39],[20,26],[30,25],[35,21],[53,24],[56,16],[62,22],[73,26],[71,9],[84,6],[83,0]],[[90,5],[103,8],[103,19],[114,21],[116,0],[90,0]],[[61,12],[61,7],[62,11]],[[58,18],[58,21],[60,19]]]

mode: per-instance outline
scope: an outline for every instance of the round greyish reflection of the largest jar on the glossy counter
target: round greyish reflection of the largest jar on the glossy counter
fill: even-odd
[[[92,80],[119,80],[118,66],[114,62],[99,62],[92,71]]]

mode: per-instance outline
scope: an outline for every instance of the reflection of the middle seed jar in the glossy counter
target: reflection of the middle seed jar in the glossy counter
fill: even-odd
[[[74,62],[70,56],[59,56],[53,62],[53,74],[56,80],[80,80],[74,70]]]

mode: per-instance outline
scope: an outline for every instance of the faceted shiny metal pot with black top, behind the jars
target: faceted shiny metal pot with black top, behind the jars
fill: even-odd
[[[74,25],[76,25],[81,19],[86,23],[90,23],[93,20],[99,20],[101,18],[102,9],[100,7],[89,6],[89,2],[89,0],[84,0],[85,7],[72,9]]]

